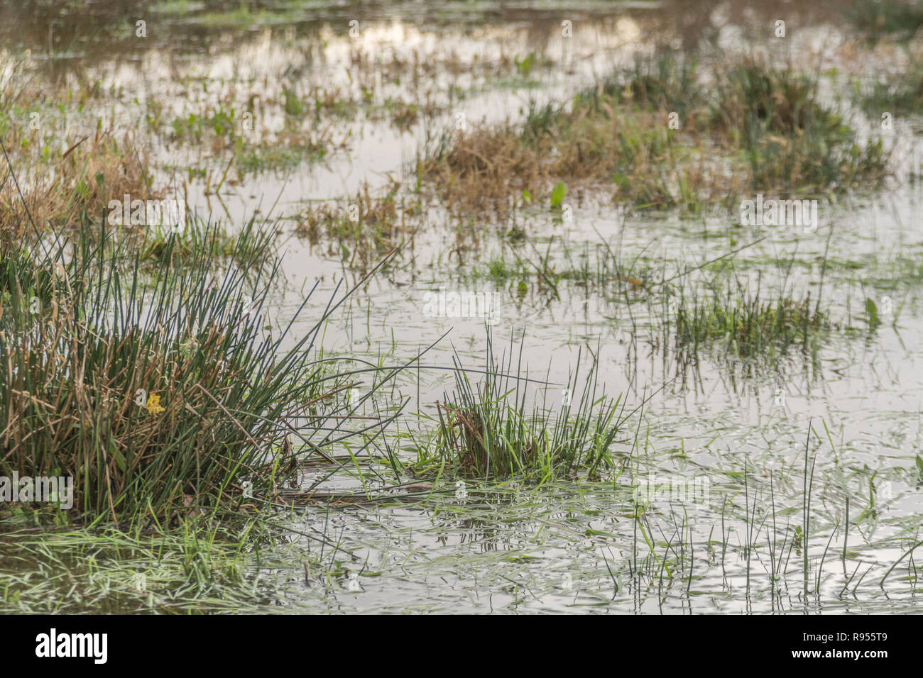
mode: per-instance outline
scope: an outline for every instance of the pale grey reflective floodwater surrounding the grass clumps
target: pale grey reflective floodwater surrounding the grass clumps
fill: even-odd
[[[470,125],[520,119],[531,101],[565,101],[655,42],[706,53],[715,46],[737,50],[766,43],[805,64],[821,58],[828,69],[849,67],[853,58],[845,46],[852,36],[835,6],[267,3],[262,14],[242,16],[234,5],[204,11],[194,3],[163,3],[142,16],[127,4],[101,5],[114,7],[120,19],[102,26],[83,13],[22,15],[5,6],[7,18],[21,22],[22,30],[10,33],[7,20],[0,34],[11,54],[28,49],[55,76],[114,87],[115,101],[95,113],[116,122],[137,119],[143,125],[155,105],[169,121],[222,104],[240,107],[255,93],[274,101],[293,82],[354,97],[367,88],[372,105],[400,98],[427,99],[438,107],[437,114],[404,130],[362,113],[335,121],[330,133],[344,148],[323,161],[238,175],[221,195],[207,190],[214,184],[203,178],[186,182],[189,200],[202,214],[239,224],[256,212],[282,225],[285,285],[270,297],[269,314],[282,327],[316,281],[307,319],[338,281],[352,283],[365,274],[349,266],[338,245],[312,245],[294,236],[299,210],[366,184],[374,191],[392,178],[412,185],[413,159],[427,134],[438,136],[459,113]],[[768,37],[779,17],[787,18],[790,31],[784,44]],[[143,39],[134,35],[142,18],[148,31]],[[353,20],[358,31],[351,36]],[[568,40],[561,37],[565,20],[572,22]],[[551,64],[526,76],[510,67],[530,53],[544,54]],[[414,61],[426,65],[416,82],[408,65]],[[842,86],[833,77],[825,80],[832,96]],[[271,139],[281,129],[280,113],[270,105],[258,110],[257,132]],[[919,122],[895,125],[892,142],[905,155],[917,146]],[[73,124],[81,124],[79,117]],[[218,177],[233,152],[158,139],[152,151],[164,184],[181,182],[183,172],[178,182],[174,167]],[[439,368],[450,367],[453,356],[469,367],[485,361],[484,319],[426,315],[426,292],[489,294],[497,303],[491,326],[497,351],[518,353],[521,342],[530,375],[552,383],[536,388],[535,398],[559,407],[560,385],[579,351],[585,357],[588,348],[598,347],[606,392],[623,394],[629,409],[646,400],[615,450],[624,468],[603,482],[539,489],[440,482],[431,495],[412,502],[385,498],[329,512],[312,508],[289,518],[293,527],[335,535],[342,552],[334,557],[342,565],[307,580],[296,572],[261,573],[277,583],[277,603],[341,612],[917,609],[912,557],[882,577],[917,541],[923,509],[915,467],[923,393],[917,376],[923,359],[918,184],[902,170],[881,194],[824,203],[816,232],[738,227],[712,217],[651,218],[613,208],[607,197],[605,189],[576,197],[569,221],[541,208],[521,209],[517,220],[527,233],[525,244],[502,237],[507,222],[460,225],[438,203],[427,204],[413,243],[344,304],[324,343],[328,354],[376,363],[385,356],[393,364],[449,333],[426,353],[427,367],[400,375],[386,398],[407,398],[407,416],[400,429],[392,427],[377,442],[379,452],[390,445],[411,461],[414,436],[425,439],[436,400],[452,387],[450,370]],[[476,239],[478,246],[457,251],[459,237]],[[772,369],[748,369],[707,353],[683,366],[660,339],[668,288],[653,279],[641,289],[619,280],[561,280],[553,292],[528,264],[527,273],[507,279],[489,275],[492,261],[521,256],[537,263],[538,253],[547,253],[557,271],[584,254],[593,266],[604,255],[604,241],[618,244],[626,260],[637,257],[660,271],[657,280],[758,241],[733,257],[737,280],[759,281],[761,289],[794,292],[796,298],[809,292],[816,298],[822,286],[824,308],[839,328],[816,355],[806,360],[796,354]],[[895,263],[900,257],[916,262],[918,280]],[[714,275],[721,274],[694,272],[687,284],[701,286]],[[885,296],[896,321],[892,325],[889,317],[870,328],[865,300],[875,299],[881,308]],[[296,324],[294,336],[311,324]],[[809,438],[809,423],[819,435]],[[801,533],[806,456],[807,544]],[[373,468],[361,476],[349,469],[332,476],[306,472],[303,487],[358,492],[407,480]],[[644,482],[662,492],[639,528],[631,499]],[[665,490],[665,482],[675,484]],[[319,557],[316,543],[306,540],[304,548]],[[360,576],[351,579],[350,573]]]

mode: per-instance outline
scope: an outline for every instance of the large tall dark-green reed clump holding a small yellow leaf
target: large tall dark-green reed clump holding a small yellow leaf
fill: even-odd
[[[80,519],[169,522],[239,506],[245,482],[271,498],[304,444],[348,437],[348,384],[314,351],[339,304],[300,339],[267,331],[269,239],[242,234],[221,268],[210,248],[173,265],[171,236],[151,280],[92,228],[4,258],[0,475],[71,476]]]

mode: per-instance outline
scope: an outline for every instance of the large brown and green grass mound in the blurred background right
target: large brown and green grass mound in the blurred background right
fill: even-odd
[[[709,99],[695,65],[639,61],[567,105],[532,106],[522,125],[446,133],[417,171],[460,211],[528,205],[563,183],[615,184],[617,203],[690,215],[737,208],[745,189],[817,195],[886,173],[881,140],[861,142],[816,80],[754,59],[713,77]]]

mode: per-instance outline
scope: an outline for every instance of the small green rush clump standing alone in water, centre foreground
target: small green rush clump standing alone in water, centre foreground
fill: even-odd
[[[494,359],[488,338],[487,362],[480,384],[473,385],[457,357],[455,392],[438,403],[436,438],[418,446],[416,470],[465,478],[504,479],[524,476],[545,482],[573,477],[578,471],[596,479],[616,466],[613,447],[626,415],[621,398],[598,391],[597,365],[587,375],[582,395],[575,395],[579,370],[569,378],[556,411],[526,412],[528,377],[510,373],[509,361]],[[545,392],[545,398],[547,391]],[[572,398],[572,400],[571,400]]]

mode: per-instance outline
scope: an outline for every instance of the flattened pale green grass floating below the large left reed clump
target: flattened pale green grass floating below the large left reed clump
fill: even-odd
[[[256,514],[233,522],[191,517],[171,529],[47,529],[29,522],[21,516],[0,520],[3,613],[291,610],[299,607],[286,600],[293,578],[342,578],[337,556],[349,556],[334,544],[295,548],[277,525]]]

